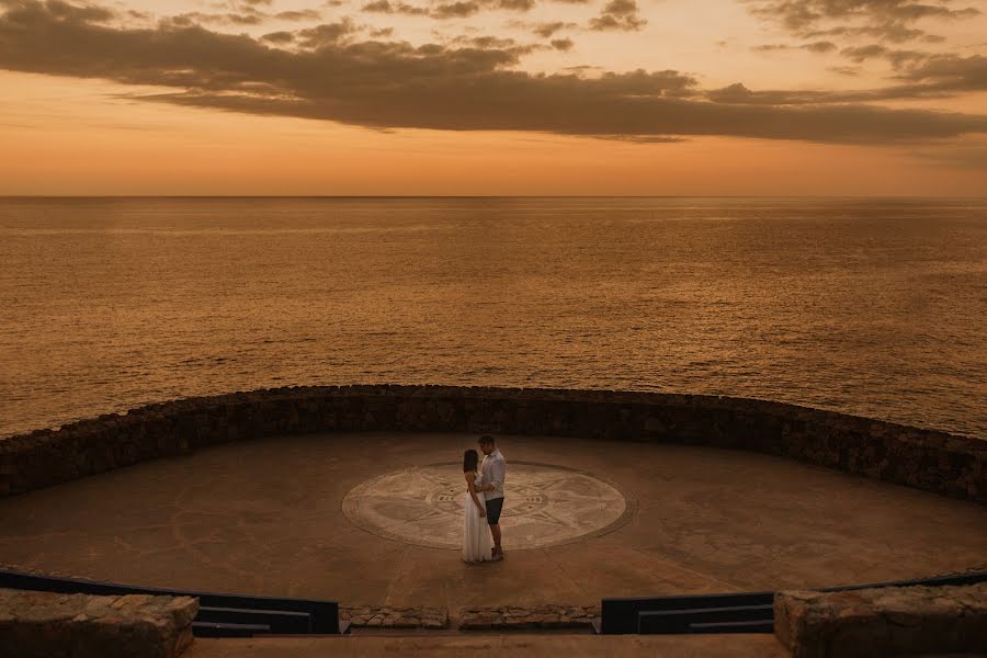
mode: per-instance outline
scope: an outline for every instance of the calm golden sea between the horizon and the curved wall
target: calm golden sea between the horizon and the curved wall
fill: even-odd
[[[268,386],[783,400],[987,438],[987,200],[0,200],[0,436]]]

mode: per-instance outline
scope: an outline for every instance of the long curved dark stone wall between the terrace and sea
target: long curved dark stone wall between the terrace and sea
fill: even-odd
[[[741,449],[987,503],[987,441],[740,398],[444,386],[287,387],[148,405],[0,440],[0,497],[259,436],[439,431]]]

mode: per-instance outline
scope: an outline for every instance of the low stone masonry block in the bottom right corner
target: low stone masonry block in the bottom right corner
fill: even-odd
[[[774,632],[793,658],[987,656],[987,582],[779,592]]]

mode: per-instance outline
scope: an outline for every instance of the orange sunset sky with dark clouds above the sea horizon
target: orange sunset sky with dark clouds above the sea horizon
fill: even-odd
[[[984,195],[985,0],[0,0],[0,194]]]

